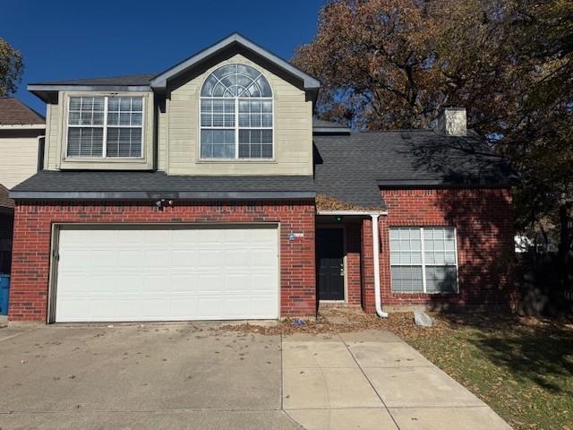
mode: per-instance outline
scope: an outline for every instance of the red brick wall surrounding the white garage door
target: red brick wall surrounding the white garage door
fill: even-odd
[[[10,321],[46,321],[51,227],[60,222],[280,222],[281,316],[316,314],[314,202],[22,202],[15,208]],[[289,240],[291,232],[304,237]]]

